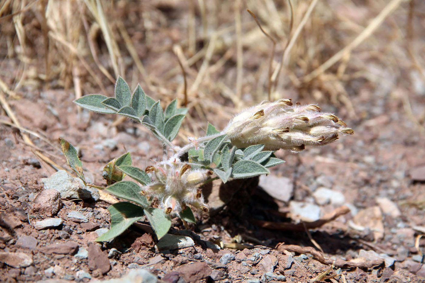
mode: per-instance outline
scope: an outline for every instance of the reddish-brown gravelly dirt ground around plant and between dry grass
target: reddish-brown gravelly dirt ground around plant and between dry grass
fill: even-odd
[[[179,5],[174,1],[157,2],[142,5],[151,13],[144,22],[148,27],[144,28],[158,34],[150,37],[146,45],[140,42],[147,42],[145,36],[148,34],[141,35],[132,25],[134,18],[143,14],[141,8],[133,4],[126,6],[119,1],[116,11],[109,11],[108,17],[123,19],[139,56],[144,58],[144,67],[149,70],[154,83],[159,85],[157,93],[149,92],[131,62],[125,66],[126,77],[132,78],[129,80],[130,88],[134,88],[139,79],[147,94],[169,102],[175,98],[172,93],[181,93],[177,91],[181,89],[181,73],[171,49],[173,44],[186,38],[187,30],[181,22],[190,16],[190,7],[187,3]],[[221,8],[223,11],[217,12],[216,20],[232,25],[231,8]],[[358,10],[353,10],[354,14],[348,16],[360,21],[359,15],[365,8],[359,3]],[[128,18],[125,17],[126,11],[132,11]],[[31,18],[31,11],[26,13],[26,17]],[[244,14],[243,17],[250,20],[249,15]],[[423,15],[421,17],[423,20]],[[399,14],[396,14],[385,22],[382,34],[386,34],[392,27],[392,21],[398,19]],[[200,21],[198,12],[196,20]],[[26,23],[26,27],[38,26],[35,22]],[[252,28],[257,27],[252,25]],[[42,38],[41,31],[35,30],[38,33],[27,35],[33,39],[30,53],[37,50],[37,46],[42,46],[41,39],[37,40]],[[375,40],[380,42],[382,50],[385,49],[385,41],[379,41],[382,38]],[[103,38],[97,37],[96,42],[102,62],[108,62]],[[420,39],[418,42],[421,42]],[[246,47],[244,50],[246,58],[250,59],[244,65],[247,75],[241,105],[250,106],[262,100],[255,92],[259,88],[255,79],[267,73],[262,60],[269,49],[263,48],[260,43],[255,47],[257,49]],[[199,40],[196,44],[197,48],[202,48],[207,41]],[[0,46],[2,54],[8,54],[6,43]],[[155,46],[162,46],[162,49]],[[126,50],[122,42],[119,42],[119,47]],[[279,48],[277,51],[282,51]],[[391,48],[399,50],[401,43],[395,42]],[[229,50],[232,51],[232,48]],[[212,61],[217,62],[222,53],[224,51],[218,51]],[[221,93],[226,93],[223,88],[219,90],[212,83],[218,81],[234,85],[237,72],[235,53],[233,50],[229,61],[210,74],[207,83],[199,88],[199,93],[192,93],[188,119],[176,143],[185,142],[185,135],[201,135],[207,120],[218,128],[224,127],[236,111],[234,101]],[[43,56],[34,59],[31,64],[44,68]],[[128,54],[123,56],[131,61]],[[354,56],[360,59],[367,57],[360,51]],[[402,53],[401,57],[406,56]],[[2,68],[9,72],[4,79],[9,88],[20,72],[19,62],[18,57],[11,56],[1,63]],[[76,62],[77,68],[85,70],[81,61]],[[201,62],[188,71],[190,85],[195,80],[193,73],[201,68]],[[394,68],[389,69],[387,63],[377,59],[363,66],[368,72],[377,74],[373,80],[351,79],[344,85],[355,115],[351,115],[350,104],[341,103],[327,92],[334,85],[326,85],[329,82],[326,79],[325,82],[318,79],[315,81],[317,85],[310,85],[310,89],[301,89],[299,85],[287,89],[278,86],[281,91],[279,98],[288,97],[301,103],[320,102],[324,111],[334,112],[343,118],[354,129],[354,135],[343,136],[332,144],[308,148],[297,154],[278,151],[275,154],[286,163],[274,167],[272,175],[289,178],[288,184],[293,186],[289,190],[289,202],[268,195],[255,185],[257,180],[246,182],[249,186],[233,195],[229,204],[215,215],[195,213],[198,222],[190,224],[190,230],[184,229],[181,221],[174,219],[170,234],[192,238],[194,244],[162,252],[156,247],[158,240],[149,232],[145,219],[111,242],[96,243],[98,229],[108,228],[110,224],[107,201],[59,200],[54,192],[37,196],[44,190],[41,179],[60,169],[54,169],[40,159],[37,151],[71,173],[59,150],[59,137],[77,147],[86,177],[99,186],[105,186],[102,168],[111,159],[130,151],[133,165],[145,168],[159,161],[163,153],[159,142],[141,125],[128,119],[118,121],[113,115],[78,109],[72,102],[75,91],[66,87],[66,79],[61,76],[44,85],[40,77],[27,75],[25,83],[17,90],[20,99],[7,99],[21,129],[8,125],[13,124],[10,115],[4,110],[0,112],[0,120],[3,121],[0,124],[0,280],[89,282],[119,278],[130,270],[142,268],[163,282],[261,280],[298,283],[309,282],[326,271],[335,260],[336,265],[342,261],[346,263],[326,272],[327,277],[321,279],[322,282],[424,282],[425,264],[421,255],[425,253],[425,238],[421,237],[425,234],[425,82],[420,77],[407,75],[416,69],[405,61],[397,67],[394,63],[391,65]],[[90,64],[95,68],[94,62],[90,61]],[[111,65],[107,67],[112,72]],[[349,67],[352,68],[348,68],[349,74],[358,71],[355,64]],[[177,70],[173,79],[163,79],[164,74],[173,68]],[[261,76],[256,75],[258,68],[263,70]],[[97,69],[96,74],[102,75]],[[80,72],[83,94],[101,92],[99,85],[84,80],[85,75],[85,71]],[[105,77],[102,77],[102,83],[108,91],[103,94],[111,96],[113,83]],[[178,98],[182,99],[183,95],[179,94]],[[29,134],[33,145],[24,141],[23,134],[28,134],[25,129],[37,133],[38,136]],[[277,183],[275,188],[279,186]],[[331,197],[320,201],[314,195],[320,188],[341,193],[343,201],[339,203]],[[295,204],[295,201],[318,206],[320,216],[342,205],[348,206],[350,212],[308,231],[277,228],[279,223],[297,222],[297,215],[291,214],[290,210],[291,202]],[[43,204],[52,204],[51,209],[43,207]],[[79,212],[87,219],[68,216],[71,212]],[[62,223],[36,229],[37,221],[48,218],[62,218]],[[268,228],[265,223],[268,223]],[[324,258],[331,259],[331,263],[324,264],[312,252],[279,249],[283,243],[313,247],[315,251],[322,249]],[[83,252],[83,249],[87,254],[81,256],[79,251]],[[377,258],[377,265],[367,265]],[[383,262],[382,258],[389,258],[391,264]]]

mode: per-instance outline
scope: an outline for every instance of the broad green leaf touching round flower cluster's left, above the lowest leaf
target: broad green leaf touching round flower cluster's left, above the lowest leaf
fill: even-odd
[[[119,198],[124,198],[127,201],[133,201],[142,207],[148,207],[147,199],[141,194],[141,189],[138,184],[133,181],[121,181],[107,187],[105,190],[111,192]]]

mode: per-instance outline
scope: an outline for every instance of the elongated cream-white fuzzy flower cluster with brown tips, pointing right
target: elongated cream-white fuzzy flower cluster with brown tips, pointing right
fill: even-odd
[[[235,116],[224,129],[233,145],[265,144],[265,150],[303,150],[306,145],[324,145],[340,133],[353,134],[346,123],[317,105],[293,105],[291,99],[262,102]]]

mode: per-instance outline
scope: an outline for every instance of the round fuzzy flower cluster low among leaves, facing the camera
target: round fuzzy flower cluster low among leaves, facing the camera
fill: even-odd
[[[145,171],[153,182],[142,187],[142,192],[156,196],[167,214],[181,212],[188,205],[207,209],[199,186],[210,178],[209,170],[191,170],[184,162],[162,161]]]

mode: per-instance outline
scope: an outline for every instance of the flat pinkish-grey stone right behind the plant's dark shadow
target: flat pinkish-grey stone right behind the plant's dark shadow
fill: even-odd
[[[294,191],[293,181],[287,177],[260,175],[258,185],[271,197],[284,202],[288,202],[292,198]]]

